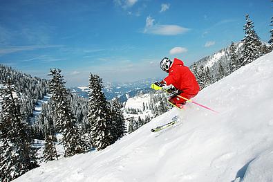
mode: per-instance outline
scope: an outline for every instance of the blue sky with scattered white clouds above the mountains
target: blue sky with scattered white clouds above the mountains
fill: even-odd
[[[62,69],[67,86],[164,77],[162,57],[190,66],[243,39],[245,15],[270,39],[270,0],[0,0],[0,63],[40,78]]]

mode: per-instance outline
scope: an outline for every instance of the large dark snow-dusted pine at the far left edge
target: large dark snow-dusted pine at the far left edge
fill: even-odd
[[[0,179],[12,179],[37,167],[30,127],[21,118],[18,93],[11,81],[0,88]]]

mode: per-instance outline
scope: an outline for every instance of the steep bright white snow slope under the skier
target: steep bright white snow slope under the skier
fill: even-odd
[[[101,152],[48,162],[15,181],[273,181],[273,53],[203,89]],[[177,125],[150,129],[178,115]]]

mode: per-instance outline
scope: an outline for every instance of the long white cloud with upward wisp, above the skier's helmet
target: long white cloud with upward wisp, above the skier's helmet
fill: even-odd
[[[156,35],[178,35],[187,32],[189,29],[178,25],[161,25],[153,24],[151,16],[146,18],[146,26],[143,33],[156,34]]]

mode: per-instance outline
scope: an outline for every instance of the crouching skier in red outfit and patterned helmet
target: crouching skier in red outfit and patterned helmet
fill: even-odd
[[[168,101],[182,109],[186,104],[186,100],[177,95],[191,99],[194,98],[200,90],[194,73],[191,73],[189,68],[184,66],[184,63],[177,58],[174,58],[172,62],[168,57],[164,57],[160,62],[160,68],[162,71],[169,73],[169,75],[161,82],[155,82],[154,84],[171,93],[175,91],[176,94],[172,95]]]

